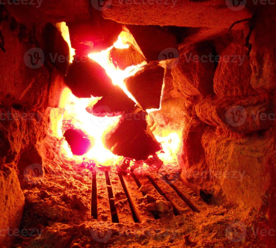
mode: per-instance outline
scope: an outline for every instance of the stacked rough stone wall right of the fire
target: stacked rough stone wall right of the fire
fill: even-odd
[[[239,30],[182,43],[171,69],[171,95],[178,91],[186,105],[181,178],[209,202],[260,210],[270,198],[276,48],[270,8]]]

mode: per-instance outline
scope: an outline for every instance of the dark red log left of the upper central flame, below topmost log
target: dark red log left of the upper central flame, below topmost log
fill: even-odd
[[[114,92],[115,86],[106,71],[87,56],[76,57],[65,79],[72,93],[79,98],[101,97]],[[76,59],[77,58],[77,59]]]

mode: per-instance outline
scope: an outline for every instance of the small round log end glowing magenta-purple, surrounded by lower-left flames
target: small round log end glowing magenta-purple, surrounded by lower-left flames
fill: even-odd
[[[88,138],[85,138],[83,131],[79,129],[68,129],[63,136],[68,142],[71,151],[74,155],[82,156],[92,148],[92,143]]]

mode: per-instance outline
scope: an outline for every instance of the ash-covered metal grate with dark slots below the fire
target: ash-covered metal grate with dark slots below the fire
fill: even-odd
[[[168,202],[176,216],[200,212],[205,202],[177,179],[166,181],[163,177],[156,179],[94,170],[91,215],[94,219],[113,223],[143,223],[147,219],[162,218],[158,211],[148,210],[148,198]]]

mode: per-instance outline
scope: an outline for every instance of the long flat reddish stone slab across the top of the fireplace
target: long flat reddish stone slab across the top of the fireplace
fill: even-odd
[[[143,13],[143,18],[139,15]],[[112,1],[111,7],[103,11],[104,17],[121,23],[136,25],[211,27],[229,28],[238,20],[251,17],[248,9],[240,11],[229,9],[225,1],[172,1],[148,2],[148,4],[128,4]],[[166,15],[166,18],[164,18]],[[216,18],[210,18],[210,17]]]

